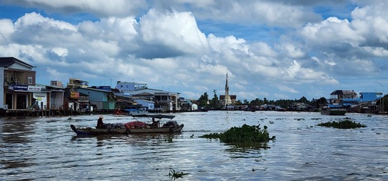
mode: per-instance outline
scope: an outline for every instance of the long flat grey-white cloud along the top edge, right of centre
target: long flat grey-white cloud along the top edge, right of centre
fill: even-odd
[[[160,7],[171,6],[185,10],[190,3],[195,17],[213,19],[227,23],[267,24],[270,26],[295,27],[306,21],[319,21],[321,18],[312,10],[300,4],[274,1],[157,1]],[[227,12],[227,13],[225,13]],[[282,13],[279,13],[282,12]]]

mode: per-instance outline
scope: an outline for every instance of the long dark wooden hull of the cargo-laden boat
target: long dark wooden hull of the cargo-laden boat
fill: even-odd
[[[140,133],[179,133],[182,131],[184,124],[179,126],[164,126],[159,128],[76,128],[73,124],[71,129],[77,135],[129,135]]]

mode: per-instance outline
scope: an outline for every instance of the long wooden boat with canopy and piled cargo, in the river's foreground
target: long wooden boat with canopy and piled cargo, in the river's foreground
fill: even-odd
[[[145,124],[144,122],[128,122],[125,124],[125,127],[110,127],[110,128],[76,128],[73,124],[70,125],[71,129],[77,133],[77,135],[128,135],[128,134],[138,134],[138,133],[179,133],[182,131],[184,124],[177,124],[177,122],[173,121],[175,115],[132,115],[133,117],[148,117],[150,120],[154,119],[170,119],[162,126],[159,124],[151,125]],[[131,124],[135,123],[135,124]],[[141,124],[141,127],[136,126],[136,124]],[[135,125],[135,126],[134,126]]]

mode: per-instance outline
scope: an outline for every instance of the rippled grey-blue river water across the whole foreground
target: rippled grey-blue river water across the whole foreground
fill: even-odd
[[[180,134],[80,137],[98,115],[0,119],[0,180],[388,180],[388,117],[276,111],[177,113]],[[317,126],[344,117],[366,128]],[[105,115],[105,123],[130,122]],[[267,126],[267,149],[200,138]]]

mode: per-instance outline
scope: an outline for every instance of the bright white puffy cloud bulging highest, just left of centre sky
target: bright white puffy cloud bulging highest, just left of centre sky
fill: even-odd
[[[208,47],[191,12],[157,12],[141,17],[141,37],[146,44],[164,45],[182,53],[200,53]]]

